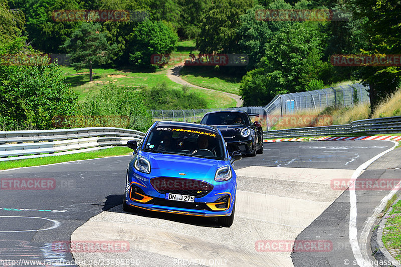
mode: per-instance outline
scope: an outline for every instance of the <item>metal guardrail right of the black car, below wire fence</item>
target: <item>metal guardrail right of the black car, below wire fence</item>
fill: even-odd
[[[401,132],[401,116],[353,121],[350,124],[305,127],[263,132],[263,138],[386,134]]]

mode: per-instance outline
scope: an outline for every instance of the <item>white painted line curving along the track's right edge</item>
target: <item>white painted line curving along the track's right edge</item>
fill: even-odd
[[[383,156],[384,154],[390,152],[395,148],[395,146],[398,145],[397,142],[390,141],[394,143],[394,146],[381,152],[380,154],[374,156],[373,158],[369,159],[368,161],[364,162],[362,165],[360,165],[352,174],[351,177],[351,185],[352,183],[355,183],[356,178],[358,178],[359,174],[366,169],[373,161],[378,159],[379,157]],[[369,261],[365,261],[364,255],[362,255],[362,252],[359,247],[358,243],[358,229],[356,228],[356,193],[355,190],[349,190],[349,203],[350,203],[350,212],[349,212],[349,243],[351,244],[352,248],[352,253],[354,254],[354,257],[356,259],[356,262],[358,263],[359,266],[361,267],[372,267],[372,264],[369,263]],[[370,228],[369,228],[370,229]]]

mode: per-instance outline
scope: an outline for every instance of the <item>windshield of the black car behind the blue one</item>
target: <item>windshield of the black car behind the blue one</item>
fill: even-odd
[[[243,125],[249,126],[249,120],[247,120],[244,113],[226,113],[216,112],[206,114],[205,117],[200,121],[202,124],[207,125]]]

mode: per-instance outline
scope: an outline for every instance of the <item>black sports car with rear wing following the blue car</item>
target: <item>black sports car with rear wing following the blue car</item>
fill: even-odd
[[[202,118],[200,123],[217,126],[227,142],[229,153],[238,151],[241,154],[256,156],[263,153],[263,130],[259,122],[251,122],[243,111],[212,111]]]

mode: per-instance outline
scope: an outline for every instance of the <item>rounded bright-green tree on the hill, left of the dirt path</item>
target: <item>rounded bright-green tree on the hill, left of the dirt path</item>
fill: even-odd
[[[136,66],[150,67],[152,54],[171,53],[177,41],[177,34],[163,22],[146,19],[128,36],[129,59]]]

